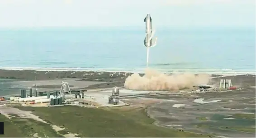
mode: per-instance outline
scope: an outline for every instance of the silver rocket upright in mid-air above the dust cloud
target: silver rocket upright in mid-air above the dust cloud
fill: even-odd
[[[146,22],[146,37],[144,39],[144,46],[156,46],[157,37],[153,38],[155,32],[152,31],[152,18],[149,14],[147,14],[146,18],[144,18],[144,22]]]

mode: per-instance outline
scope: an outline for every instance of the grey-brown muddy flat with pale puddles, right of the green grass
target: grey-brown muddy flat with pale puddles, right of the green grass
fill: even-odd
[[[157,120],[157,124],[170,128],[196,133],[214,133],[225,137],[255,138],[255,131],[234,130],[234,126],[235,129],[255,130],[255,75],[225,78],[232,79],[233,85],[241,86],[243,89],[197,95],[156,96],[154,98],[166,101],[153,105],[148,113]],[[218,81],[220,78],[214,79],[213,81]],[[252,117],[237,118],[237,115]]]

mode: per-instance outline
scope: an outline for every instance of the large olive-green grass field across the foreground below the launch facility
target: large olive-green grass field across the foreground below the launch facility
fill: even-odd
[[[120,110],[120,108],[81,108],[78,106],[19,107],[19,109],[32,111],[34,115],[38,115],[51,124],[67,128],[59,132],[61,134],[78,133],[81,137],[209,137],[158,127],[152,124],[154,120],[147,117],[144,109]],[[24,131],[22,125],[12,128],[17,122],[10,122],[8,119],[7,122],[9,122],[9,127],[6,127],[6,132],[17,129],[16,132],[19,133],[14,136],[13,133],[8,133],[5,137],[28,136],[28,131],[22,132]],[[32,122],[28,127],[38,132],[44,131],[49,137],[60,137],[45,125]]]

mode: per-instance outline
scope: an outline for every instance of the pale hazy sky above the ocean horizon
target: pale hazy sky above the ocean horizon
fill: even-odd
[[[0,27],[255,26],[255,0],[0,0]]]

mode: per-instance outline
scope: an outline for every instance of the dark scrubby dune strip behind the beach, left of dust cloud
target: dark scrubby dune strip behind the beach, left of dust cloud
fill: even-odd
[[[97,71],[37,71],[37,70],[4,70],[0,69],[2,79],[51,80],[57,78],[81,78],[81,81],[125,81],[133,73],[97,72]],[[141,76],[144,74],[140,74]],[[222,75],[211,74],[212,77]]]

